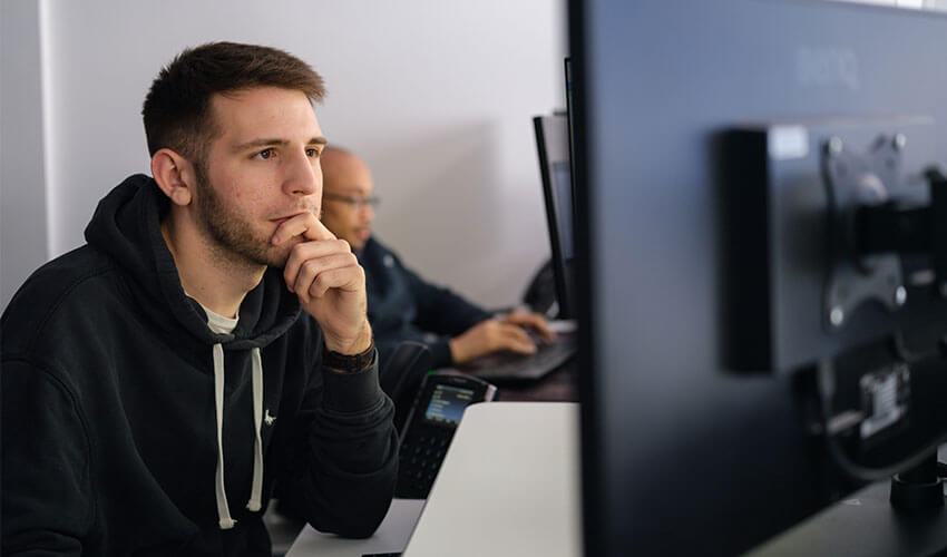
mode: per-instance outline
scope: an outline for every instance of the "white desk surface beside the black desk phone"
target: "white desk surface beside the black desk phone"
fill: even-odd
[[[578,420],[574,402],[475,404],[463,413],[426,506],[396,499],[367,540],[306,527],[287,557],[402,549],[404,557],[580,556]],[[411,514],[417,518],[422,506],[411,534]]]

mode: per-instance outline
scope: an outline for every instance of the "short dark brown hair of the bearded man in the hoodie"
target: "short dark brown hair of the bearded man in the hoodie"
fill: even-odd
[[[322,77],[306,62],[283,50],[236,42],[208,42],[188,48],[152,82],[141,116],[148,153],[169,148],[202,164],[207,144],[219,131],[211,98],[256,87],[299,90],[322,101]]]

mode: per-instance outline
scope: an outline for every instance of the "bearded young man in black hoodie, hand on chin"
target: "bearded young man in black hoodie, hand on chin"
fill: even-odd
[[[368,536],[393,492],[364,273],[319,222],[322,79],[286,52],[182,52],[143,110],[152,175],[2,323],[3,555],[270,555],[275,485]]]

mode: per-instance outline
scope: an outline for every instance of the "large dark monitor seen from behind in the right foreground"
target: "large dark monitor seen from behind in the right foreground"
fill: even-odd
[[[742,553],[929,458],[947,17],[573,0],[569,26],[586,555]]]

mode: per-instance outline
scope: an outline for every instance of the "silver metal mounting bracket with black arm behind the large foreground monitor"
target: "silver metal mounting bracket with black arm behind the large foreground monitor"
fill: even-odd
[[[907,303],[901,257],[929,255],[933,287],[947,297],[947,178],[924,174],[929,201],[898,198],[907,138],[881,136],[867,153],[839,137],[824,144],[822,172],[829,212],[829,266],[822,315],[827,330],[845,326],[861,304],[877,301],[896,312]]]

